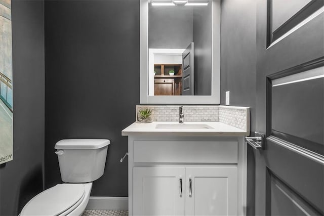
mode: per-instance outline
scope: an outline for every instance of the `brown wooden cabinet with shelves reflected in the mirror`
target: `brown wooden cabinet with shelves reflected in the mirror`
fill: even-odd
[[[174,70],[174,75],[169,71]],[[154,64],[154,95],[181,95],[181,64]]]

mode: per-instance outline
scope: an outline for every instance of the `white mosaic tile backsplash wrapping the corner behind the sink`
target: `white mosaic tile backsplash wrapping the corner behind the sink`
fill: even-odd
[[[137,105],[136,119],[140,109],[150,108],[153,121],[179,121],[179,105]],[[184,121],[220,121],[250,131],[250,108],[219,105],[183,105]]]

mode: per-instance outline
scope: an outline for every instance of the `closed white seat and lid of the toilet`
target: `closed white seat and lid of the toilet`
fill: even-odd
[[[64,216],[85,199],[85,194],[84,184],[58,184],[33,197],[20,215]]]

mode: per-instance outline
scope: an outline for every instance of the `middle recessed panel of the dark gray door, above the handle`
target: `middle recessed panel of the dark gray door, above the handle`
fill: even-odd
[[[324,67],[320,67],[322,61],[316,60],[316,62],[319,66],[316,68],[318,74],[324,76]],[[294,76],[299,79],[299,74],[309,73],[313,76],[311,71],[314,69],[289,76],[280,73],[281,76],[284,75],[284,78]],[[268,98],[271,98],[271,122],[269,124],[271,123],[273,136],[324,155],[324,77],[318,74],[315,74],[318,78],[314,79],[294,82],[291,78],[292,81],[289,82],[272,84],[271,94],[268,95]],[[282,79],[282,77],[273,79],[275,76],[275,74],[269,76],[272,83],[277,83],[276,80]]]

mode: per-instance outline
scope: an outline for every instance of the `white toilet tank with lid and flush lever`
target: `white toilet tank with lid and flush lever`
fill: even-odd
[[[61,178],[66,183],[99,179],[104,172],[109,140],[69,139],[56,143]]]

